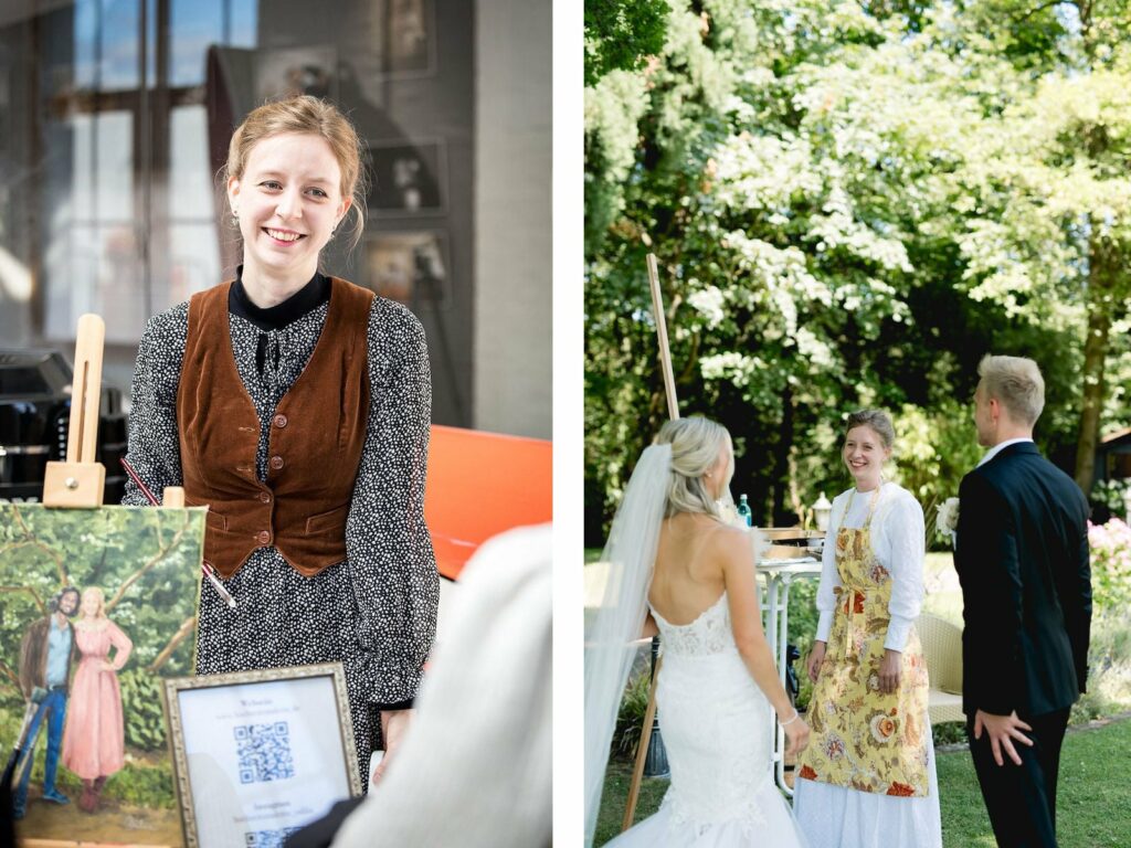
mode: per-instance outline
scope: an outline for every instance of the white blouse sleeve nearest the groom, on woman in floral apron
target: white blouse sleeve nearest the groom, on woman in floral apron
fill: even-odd
[[[881,562],[891,574],[891,599],[888,602],[891,621],[883,647],[903,651],[923,608],[923,557],[926,553],[923,508],[910,493],[904,492],[884,510],[881,528],[887,548]]]

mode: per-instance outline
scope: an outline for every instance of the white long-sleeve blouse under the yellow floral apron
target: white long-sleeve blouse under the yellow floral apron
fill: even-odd
[[[861,528],[867,520],[872,502],[871,492],[857,492],[848,509],[848,496],[853,490],[841,492],[832,500],[829,516],[829,531],[824,538],[821,560],[821,583],[817,590],[818,641],[827,642],[832,628],[836,608],[836,587],[840,586],[837,573],[836,539],[841,527]],[[883,647],[903,651],[912,625],[923,607],[923,563],[926,553],[923,508],[915,496],[895,483],[883,483],[880,500],[871,525],[872,552],[880,564],[891,574],[891,600],[888,603],[888,635]]]

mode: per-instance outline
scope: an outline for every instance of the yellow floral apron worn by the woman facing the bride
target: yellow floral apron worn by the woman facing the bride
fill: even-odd
[[[848,505],[845,514],[852,507]],[[880,661],[888,634],[891,574],[872,552],[871,525],[879,487],[860,529],[837,533],[837,605],[824,661],[813,687],[809,744],[797,776],[861,791],[927,795],[927,675],[918,633],[912,628],[903,651],[899,687],[880,692]]]

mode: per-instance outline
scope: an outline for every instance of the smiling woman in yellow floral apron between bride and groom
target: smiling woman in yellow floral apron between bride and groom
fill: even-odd
[[[809,745],[794,812],[812,848],[940,848],[927,674],[915,632],[923,598],[923,509],[883,479],[895,430],[848,416],[855,486],[832,502],[810,656]]]

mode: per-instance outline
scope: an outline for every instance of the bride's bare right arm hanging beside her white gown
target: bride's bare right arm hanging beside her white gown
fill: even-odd
[[[775,712],[783,720],[789,720],[794,715],[793,704],[789,703],[789,696],[778,677],[770,646],[762,632],[762,616],[758,608],[758,592],[754,586],[754,556],[750,542],[745,531],[733,528],[715,535],[723,564],[727,604],[731,608],[731,629],[734,631],[734,643],[739,648],[739,655]]]

